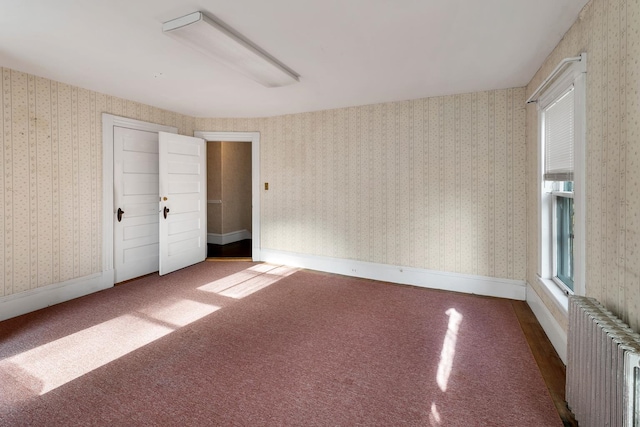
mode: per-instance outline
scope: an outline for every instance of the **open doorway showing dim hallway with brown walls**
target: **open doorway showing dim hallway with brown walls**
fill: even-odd
[[[207,257],[251,258],[251,142],[207,142]]]

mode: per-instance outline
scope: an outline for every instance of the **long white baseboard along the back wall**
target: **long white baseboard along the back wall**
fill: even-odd
[[[262,261],[272,264],[283,264],[291,267],[307,268],[310,270],[403,285],[509,298],[520,301],[524,301],[526,298],[526,285],[525,282],[521,280],[456,274],[421,268],[304,255],[264,248],[262,248],[260,258]]]

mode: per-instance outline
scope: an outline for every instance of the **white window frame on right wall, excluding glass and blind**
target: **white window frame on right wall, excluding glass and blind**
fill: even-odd
[[[544,180],[545,167],[545,127],[544,110],[574,88],[574,173],[573,193],[553,191],[549,181]],[[586,234],[586,197],[585,197],[585,152],[586,152],[586,55],[581,61],[572,62],[549,85],[537,101],[538,107],[538,277],[557,299],[566,300],[570,294],[584,295],[585,283],[585,234]],[[557,234],[555,230],[555,198],[573,197],[574,239],[573,239],[573,291],[555,277],[557,271]],[[560,293],[558,293],[558,290]],[[566,301],[562,301],[565,305]]]

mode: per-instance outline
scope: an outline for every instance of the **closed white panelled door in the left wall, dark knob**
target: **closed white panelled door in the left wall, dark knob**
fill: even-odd
[[[158,133],[114,127],[116,283],[158,271]]]

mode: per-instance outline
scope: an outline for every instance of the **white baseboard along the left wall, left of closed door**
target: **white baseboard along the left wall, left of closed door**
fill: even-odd
[[[113,287],[113,270],[0,297],[0,321]]]

